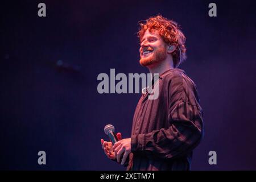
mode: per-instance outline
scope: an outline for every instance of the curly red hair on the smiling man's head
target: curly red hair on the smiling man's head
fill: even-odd
[[[164,18],[162,15],[156,15],[148,18],[145,23],[139,23],[138,37],[141,42],[144,33],[147,31],[158,31],[158,34],[163,38],[168,45],[176,45],[176,49],[172,52],[174,59],[174,67],[179,67],[186,58],[185,36],[181,32],[179,25],[173,20]],[[181,55],[181,57],[180,57]]]

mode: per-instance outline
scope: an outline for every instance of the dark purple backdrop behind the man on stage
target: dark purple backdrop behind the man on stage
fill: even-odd
[[[38,17],[38,3],[47,17]],[[217,17],[208,16],[210,2]],[[205,137],[193,170],[256,169],[254,1],[1,1],[1,169],[125,168],[101,149],[104,126],[124,138],[139,94],[98,94],[97,76],[147,73],[138,21],[163,14],[181,24]],[[62,60],[71,68],[57,68]],[[73,67],[73,69],[72,69]],[[75,70],[74,70],[75,69]],[[78,71],[76,71],[78,69]],[[47,154],[39,166],[38,151]],[[217,152],[217,165],[208,152]]]

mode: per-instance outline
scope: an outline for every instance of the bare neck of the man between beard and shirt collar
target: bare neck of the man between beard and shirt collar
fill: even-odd
[[[158,73],[161,75],[163,72],[166,72],[168,69],[174,68],[174,63],[171,60],[164,60],[161,63],[157,63],[155,65],[151,65],[147,67],[151,74]]]

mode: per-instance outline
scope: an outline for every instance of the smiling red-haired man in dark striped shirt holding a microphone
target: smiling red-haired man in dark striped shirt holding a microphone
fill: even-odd
[[[189,170],[204,127],[196,86],[177,68],[186,58],[185,36],[176,22],[162,15],[140,26],[139,63],[150,73],[159,73],[159,97],[148,100],[148,93],[143,94],[134,113],[131,138],[122,139],[118,133],[114,146],[101,139],[102,148],[127,170]]]

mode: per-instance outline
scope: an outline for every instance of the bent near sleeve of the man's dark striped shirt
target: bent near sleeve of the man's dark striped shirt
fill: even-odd
[[[189,154],[203,136],[203,110],[192,80],[182,76],[168,82],[167,129],[131,136],[132,152],[152,152],[159,158],[171,159]]]

